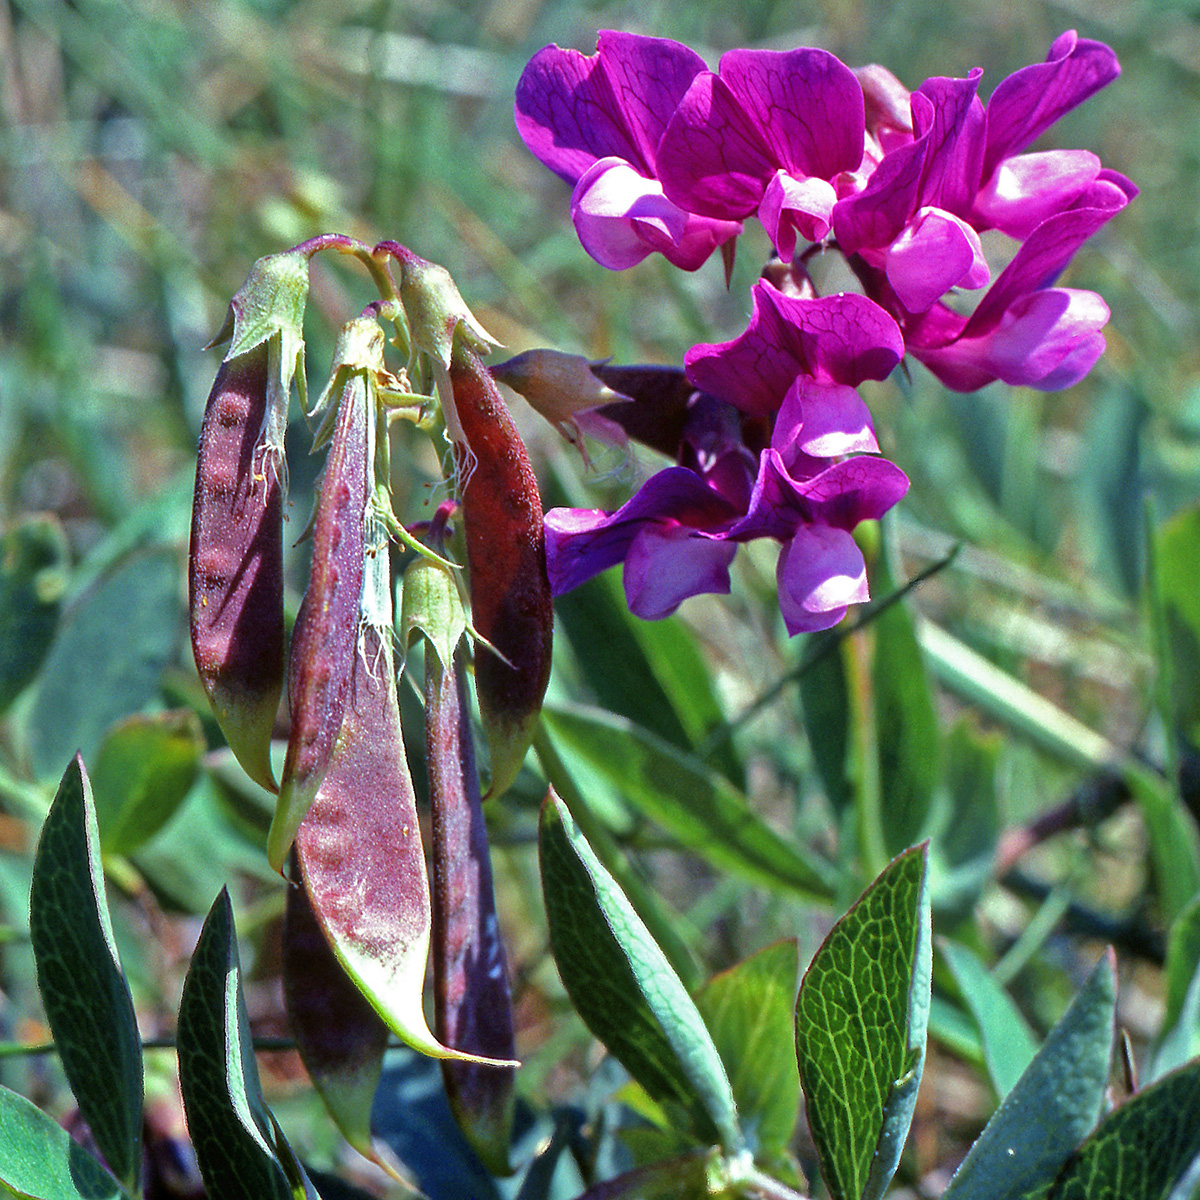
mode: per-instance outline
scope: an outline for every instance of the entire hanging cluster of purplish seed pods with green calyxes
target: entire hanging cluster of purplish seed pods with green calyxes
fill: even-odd
[[[319,420],[316,448],[328,443],[328,451],[288,646],[283,431],[295,376],[307,400],[307,274],[326,248],[364,262],[380,300],[343,328],[330,384],[308,414]],[[390,262],[400,265],[398,287]],[[384,319],[404,358],[397,373],[385,365]],[[197,469],[192,643],[230,750],[277,792],[268,857],[292,884],[283,962],[296,1042],[335,1120],[366,1153],[390,1034],[443,1060],[463,1130],[503,1170],[514,1031],[462,635],[476,635],[475,691],[488,794],[497,794],[520,769],[538,720],[552,612],[536,482],[479,356],[491,342],[442,268],[392,242],[372,250],[340,235],[256,264],[224,332],[230,346]],[[427,391],[410,380],[428,380]],[[431,426],[434,389],[458,502],[439,510],[431,545],[420,545],[391,511],[388,426],[397,415]],[[462,524],[466,571],[443,557],[451,512]],[[397,701],[392,535],[416,551],[401,588],[403,647],[426,640],[428,869]],[[276,784],[270,750],[284,679],[289,721]],[[422,1008],[431,948],[434,1030]]]

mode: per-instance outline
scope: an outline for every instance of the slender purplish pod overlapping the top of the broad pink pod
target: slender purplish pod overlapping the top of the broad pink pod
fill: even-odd
[[[346,710],[362,599],[373,408],[366,372],[350,371],[317,498],[308,587],[292,631],[292,733],[266,838],[266,857],[277,871],[329,769]]]

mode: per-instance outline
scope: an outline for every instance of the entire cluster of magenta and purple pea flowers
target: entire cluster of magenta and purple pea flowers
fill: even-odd
[[[709,71],[677,42],[606,31],[594,55],[534,55],[517,130],[574,185],[571,217],[596,262],[622,270],[658,252],[696,270],[731,253],[749,217],[779,257],[746,330],[692,347],[682,379],[601,370],[630,397],[605,415],[678,466],[616,512],[546,515],[556,593],[622,562],[631,610],[661,617],[727,592],[738,542],[766,536],[782,546],[790,632],[829,628],[865,600],[851,532],[908,481],[878,457],[858,385],[907,352],[954,390],[1054,390],[1104,349],[1104,301],[1054,284],[1136,188],[1086,150],[1027,150],[1118,71],[1074,31],[986,104],[979,70],[908,92],[882,67],[852,71],[821,49],[731,50]],[[988,230],[1016,244],[995,278]],[[816,295],[811,246],[839,250],[862,294]],[[970,314],[947,304],[982,288]]]

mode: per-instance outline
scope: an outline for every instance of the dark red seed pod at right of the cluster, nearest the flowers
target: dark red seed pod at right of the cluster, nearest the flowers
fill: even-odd
[[[550,683],[554,612],[541,498],[499,389],[473,350],[450,361],[464,442],[454,446],[475,631],[475,694],[491,752],[488,796],[516,778]],[[494,648],[494,649],[493,649]]]

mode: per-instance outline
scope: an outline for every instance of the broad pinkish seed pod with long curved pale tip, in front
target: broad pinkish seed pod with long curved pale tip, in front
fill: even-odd
[[[337,754],[296,834],[296,859],[334,953],[392,1032],[434,1058],[492,1062],[443,1045],[425,1022],[430,888],[390,636],[360,630]]]

